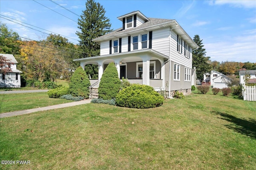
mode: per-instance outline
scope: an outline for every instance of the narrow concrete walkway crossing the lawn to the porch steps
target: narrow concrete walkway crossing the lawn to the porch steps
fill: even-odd
[[[86,99],[86,100],[81,100],[79,102],[70,102],[70,103],[64,103],[64,104],[57,104],[57,105],[53,105],[53,106],[39,107],[39,108],[35,108],[35,109],[12,111],[12,112],[8,112],[8,113],[1,113],[0,118],[16,116],[16,115],[23,115],[23,114],[33,113],[36,111],[44,111],[44,110],[51,110],[51,109],[59,109],[59,108],[63,108],[63,107],[77,106],[77,105],[81,105],[81,104],[88,104],[90,102],[91,102],[91,99]]]

